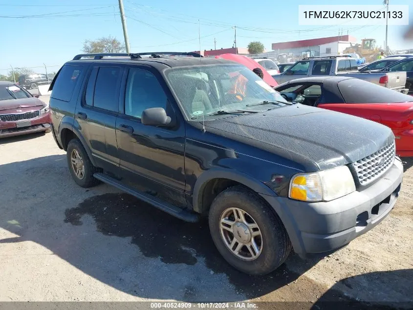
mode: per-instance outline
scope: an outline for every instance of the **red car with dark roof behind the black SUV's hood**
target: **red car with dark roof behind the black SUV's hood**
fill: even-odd
[[[396,154],[401,157],[413,156],[413,96],[344,76],[295,79],[278,85],[275,90],[290,102],[382,123],[394,133]],[[346,134],[345,129],[343,134]]]

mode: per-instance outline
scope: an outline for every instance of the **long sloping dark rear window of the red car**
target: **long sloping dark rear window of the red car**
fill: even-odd
[[[347,79],[338,83],[338,88],[347,103],[391,103],[413,101],[413,96],[395,92],[359,79]]]

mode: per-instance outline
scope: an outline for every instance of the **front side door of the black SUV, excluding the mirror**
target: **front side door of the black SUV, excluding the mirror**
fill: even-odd
[[[159,76],[159,79],[156,77]],[[186,206],[185,124],[174,99],[158,72],[133,67],[124,81],[125,94],[116,120],[116,138],[124,182],[139,191],[150,191],[164,200]],[[161,80],[163,82],[163,80]],[[162,86],[163,84],[163,86]],[[168,95],[167,95],[168,94]],[[148,108],[164,108],[175,118],[174,128],[142,124],[141,115]]]

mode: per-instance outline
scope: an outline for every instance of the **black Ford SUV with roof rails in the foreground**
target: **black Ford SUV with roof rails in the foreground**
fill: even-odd
[[[249,274],[291,247],[344,246],[390,213],[403,176],[390,128],[291,105],[238,63],[169,54],[83,54],[58,72],[52,132],[78,185],[208,216],[219,252]]]

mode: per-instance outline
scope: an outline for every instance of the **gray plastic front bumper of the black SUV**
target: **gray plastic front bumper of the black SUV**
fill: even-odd
[[[283,221],[294,251],[327,252],[348,244],[380,223],[396,203],[403,165],[394,165],[373,185],[328,202],[303,202],[285,197],[263,197]]]

